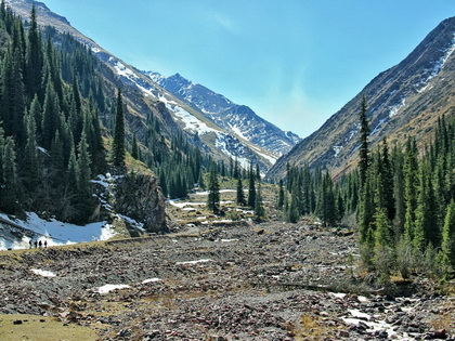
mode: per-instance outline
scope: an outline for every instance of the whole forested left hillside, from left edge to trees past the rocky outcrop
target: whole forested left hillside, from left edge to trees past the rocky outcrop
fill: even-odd
[[[190,145],[179,130],[165,136],[160,120],[144,113],[139,143],[122,84],[73,36],[39,27],[35,6],[24,22],[3,1],[0,37],[0,212],[82,224],[100,214],[98,174],[148,167],[173,197],[197,182],[209,162],[197,141]],[[118,134],[120,162],[112,150]]]

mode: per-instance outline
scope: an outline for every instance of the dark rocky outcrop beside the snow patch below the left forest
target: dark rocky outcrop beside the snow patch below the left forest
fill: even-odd
[[[114,195],[117,213],[134,219],[146,232],[167,232],[165,202],[156,178],[134,172],[117,176]]]

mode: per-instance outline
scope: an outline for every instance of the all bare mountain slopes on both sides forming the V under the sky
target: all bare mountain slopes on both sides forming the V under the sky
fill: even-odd
[[[6,0],[25,18],[31,3]],[[431,139],[438,117],[454,115],[454,17],[442,22],[404,61],[379,74],[317,131],[300,141],[249,107],[179,74],[164,77],[140,71],[80,34],[43,3],[35,3],[42,25],[75,36],[103,62],[103,76],[113,93],[116,87],[122,88],[130,134],[134,132],[140,141],[145,139],[145,121],[153,116],[167,139],[182,132],[214,159],[237,159],[243,166],[259,163],[263,173],[269,171],[268,178],[282,178],[286,163],[327,167],[334,173],[351,169],[359,146],[358,113],[363,96],[368,104],[373,147],[384,137],[390,143],[403,143],[407,135],[416,135],[424,145]]]

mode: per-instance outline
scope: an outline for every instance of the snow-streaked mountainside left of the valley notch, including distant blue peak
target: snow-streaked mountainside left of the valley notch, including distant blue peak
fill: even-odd
[[[34,2],[6,0],[24,18],[28,18]],[[79,32],[44,3],[35,4],[41,25],[54,26],[84,43],[104,63],[105,79],[113,87],[125,88],[128,128],[140,141],[145,136],[144,121],[153,115],[169,139],[177,130],[182,131],[191,143],[200,144],[214,159],[237,159],[244,167],[259,163],[263,173],[300,141],[296,134],[283,132],[258,117],[250,108],[236,105],[180,75],[166,78],[156,73],[141,73]]]

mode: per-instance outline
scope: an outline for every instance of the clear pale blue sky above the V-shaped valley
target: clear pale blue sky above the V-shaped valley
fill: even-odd
[[[176,73],[304,137],[454,0],[43,0],[123,62]]]

